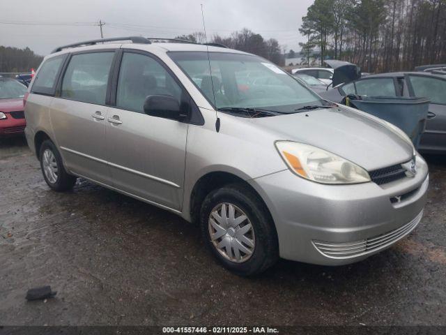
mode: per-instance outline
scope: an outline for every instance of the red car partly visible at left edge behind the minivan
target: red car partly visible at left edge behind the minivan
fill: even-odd
[[[23,97],[26,86],[0,77],[0,137],[23,134],[26,126]]]

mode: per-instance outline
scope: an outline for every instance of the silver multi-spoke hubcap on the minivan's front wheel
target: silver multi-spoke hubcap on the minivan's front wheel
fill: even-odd
[[[236,205],[224,202],[210,211],[209,235],[217,251],[231,262],[246,262],[254,253],[254,229]]]

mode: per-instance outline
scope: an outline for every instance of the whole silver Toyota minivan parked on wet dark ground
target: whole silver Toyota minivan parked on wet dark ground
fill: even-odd
[[[357,262],[420,223],[428,168],[399,128],[261,57],[183,42],[111,38],[45,57],[25,114],[50,188],[82,177],[172,211],[245,276],[279,257]]]

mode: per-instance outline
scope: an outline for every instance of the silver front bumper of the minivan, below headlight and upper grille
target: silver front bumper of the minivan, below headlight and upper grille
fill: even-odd
[[[282,258],[344,265],[388,248],[415,229],[426,204],[429,175],[426,162],[417,156],[415,177],[380,186],[317,184],[289,170],[249,183],[270,209]]]

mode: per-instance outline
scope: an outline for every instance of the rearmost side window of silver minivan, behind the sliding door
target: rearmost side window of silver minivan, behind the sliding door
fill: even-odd
[[[34,80],[32,93],[54,95],[57,77],[65,57],[66,55],[53,57],[42,64]]]

